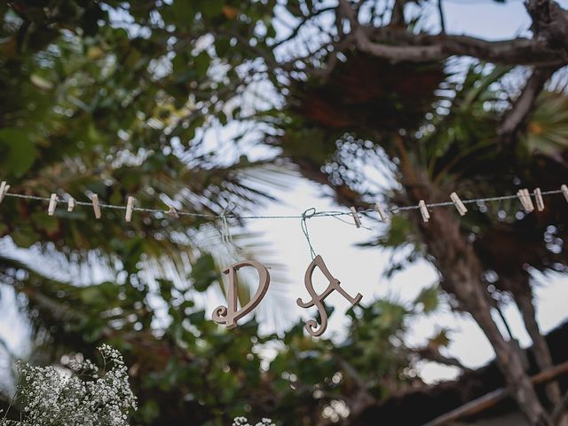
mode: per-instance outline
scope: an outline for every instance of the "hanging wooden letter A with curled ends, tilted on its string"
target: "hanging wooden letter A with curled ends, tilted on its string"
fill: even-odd
[[[323,274],[326,276],[327,280],[329,281],[329,285],[327,286],[326,291],[324,291],[320,295],[318,295],[318,293],[316,293],[316,291],[313,289],[313,283],[312,283],[313,272],[315,271],[316,268],[319,268],[319,271],[323,272]],[[361,298],[363,297],[359,293],[357,294],[357,296],[351,297],[345,290],[343,290],[343,288],[341,287],[341,282],[337,280],[331,274],[331,272],[329,272],[326,264],[319,255],[316,256],[316,258],[313,259],[312,263],[308,266],[308,269],[305,272],[304,276],[304,284],[305,288],[308,290],[308,293],[310,293],[310,296],[312,296],[312,300],[310,302],[304,303],[302,302],[302,299],[298,297],[296,303],[301,308],[311,308],[312,306],[316,306],[318,308],[319,317],[321,317],[321,326],[319,326],[318,328],[318,323],[314,319],[310,319],[308,322],[305,323],[305,329],[307,330],[308,333],[310,333],[314,337],[323,335],[323,333],[326,331],[327,312],[326,312],[326,307],[323,304],[323,301],[327,296],[331,295],[334,292],[334,290],[337,290],[339,294],[345,297],[347,300],[349,300],[351,304],[359,304]]]

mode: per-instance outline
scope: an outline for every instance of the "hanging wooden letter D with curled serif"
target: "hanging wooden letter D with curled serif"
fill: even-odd
[[[252,296],[239,310],[238,307],[238,296],[237,296],[237,271],[243,266],[252,266],[258,272],[258,288],[256,289],[255,296]],[[239,262],[238,264],[233,264],[229,269],[223,273],[229,276],[229,284],[226,287],[227,303],[226,306],[217,306],[215,311],[213,311],[213,320],[217,324],[225,324],[227,328],[237,327],[237,320],[244,317],[246,314],[251,312],[256,308],[260,301],[263,300],[266,291],[268,291],[268,286],[270,286],[270,273],[264,264],[254,262],[252,260]]]

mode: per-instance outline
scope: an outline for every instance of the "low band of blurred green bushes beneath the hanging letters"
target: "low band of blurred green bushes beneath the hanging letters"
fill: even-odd
[[[412,360],[404,333],[420,313],[393,302],[353,308],[343,343],[307,337],[303,323],[281,337],[261,337],[254,321],[230,331],[217,327],[192,293],[180,293],[167,280],[155,290],[141,283],[77,287],[35,272],[21,280],[17,268],[23,266],[12,264],[4,280],[13,280],[28,298],[30,318],[49,330],[49,347],[57,351],[51,356],[69,348],[92,356],[102,341],[125,355],[140,403],[136,424],[191,418],[221,425],[250,406],[256,415],[272,414],[283,424],[301,418],[307,425],[331,400],[356,398],[353,387],[360,380],[376,398],[388,396],[401,380],[415,380],[405,373]],[[157,297],[169,305],[168,325],[159,328],[154,322],[164,318],[153,306]],[[278,351],[263,367],[270,348]]]

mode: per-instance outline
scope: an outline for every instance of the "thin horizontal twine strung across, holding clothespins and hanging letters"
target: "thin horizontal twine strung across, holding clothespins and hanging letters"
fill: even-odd
[[[552,190],[552,191],[542,191],[540,194],[542,196],[545,195],[555,195],[558,193],[563,193],[562,190],[557,189],[557,190]],[[534,192],[530,193],[530,195],[534,196]],[[21,193],[5,193],[4,194],[5,197],[12,197],[12,198],[20,198],[20,199],[24,199],[24,200],[35,200],[35,201],[46,201],[49,202],[50,199],[47,197],[38,197],[36,195],[25,195],[25,194],[21,194]],[[486,197],[486,198],[473,198],[473,199],[466,199],[466,200],[461,200],[464,204],[474,204],[474,203],[485,203],[485,202],[493,202],[493,201],[505,201],[505,200],[514,200],[517,199],[517,194],[515,195],[501,195],[499,197]],[[55,201],[57,204],[59,203],[67,203],[67,200],[61,200],[61,199],[57,199]],[[75,205],[76,206],[88,206],[92,208],[92,202],[87,202],[87,201],[75,201]],[[437,208],[437,207],[446,207],[446,206],[453,206],[454,202],[453,201],[442,201],[442,202],[430,202],[426,204],[427,208]],[[101,209],[115,209],[115,210],[125,210],[126,206],[120,206],[120,205],[115,205],[115,204],[106,204],[104,202],[99,202],[99,207]],[[390,213],[392,214],[396,214],[400,211],[407,211],[407,210],[417,210],[420,209],[420,207],[418,205],[413,205],[413,206],[393,206],[390,209],[387,209],[388,211],[390,211]],[[143,212],[143,213],[154,213],[154,214],[165,214],[167,213],[167,210],[164,209],[144,209],[141,207],[134,207],[132,209],[133,211],[139,211],[139,212]],[[337,211],[337,210],[329,210],[329,211],[314,211],[309,217],[305,217],[304,218],[304,214],[307,211],[311,211],[312,209],[307,209],[306,211],[304,211],[304,213],[302,215],[276,215],[276,216],[253,216],[253,215],[249,215],[249,216],[237,216],[234,213],[233,214],[210,214],[210,213],[194,213],[194,212],[189,212],[189,211],[177,211],[177,215],[182,217],[202,217],[202,218],[208,218],[208,219],[221,219],[223,216],[225,216],[226,218],[234,218],[234,219],[302,219],[303,222],[305,223],[305,218],[313,218],[313,217],[335,217],[335,218],[339,218],[339,217],[343,217],[343,216],[352,216],[351,211]],[[314,209],[315,210],[315,209]],[[359,213],[372,213],[374,212],[375,209],[362,209],[359,210]],[[351,223],[350,223],[351,225]]]

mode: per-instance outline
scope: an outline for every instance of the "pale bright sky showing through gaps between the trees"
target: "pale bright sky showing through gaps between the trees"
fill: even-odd
[[[568,6],[568,0],[560,2]],[[506,4],[497,4],[491,0],[445,0],[446,28],[449,33],[469,34],[488,39],[509,38],[523,34],[530,20],[522,1],[509,0]],[[436,26],[435,19],[431,22]],[[219,135],[217,134],[216,137]],[[222,136],[222,135],[221,135]],[[548,188],[547,188],[548,189]],[[290,177],[288,187],[272,190],[278,201],[259,208],[258,215],[298,215],[305,209],[318,210],[344,209],[336,206],[324,189],[300,177]],[[416,214],[419,214],[416,212]],[[434,210],[432,214],[436,214]],[[312,258],[307,241],[297,219],[262,220],[248,222],[250,233],[262,233],[262,241],[269,243],[271,261],[284,266],[283,283],[272,285],[269,294],[277,298],[284,314],[291,320],[312,318],[313,310],[304,310],[296,305],[296,298],[307,300],[304,288],[304,272]],[[334,276],[342,281],[343,288],[355,295],[363,295],[362,304],[369,304],[378,297],[390,297],[408,302],[417,296],[422,288],[430,287],[438,281],[437,272],[429,264],[418,263],[400,272],[391,279],[383,277],[383,271],[389,263],[389,254],[376,248],[358,248],[356,244],[367,241],[375,235],[375,230],[357,229],[334,218],[321,217],[309,220],[312,243],[319,255],[325,260]],[[364,224],[380,226],[375,222]],[[522,249],[522,248],[520,248]],[[324,288],[325,282],[315,280],[316,288]],[[565,301],[568,300],[568,279],[559,276],[534,277],[535,295],[538,300],[537,311],[540,327],[543,331],[556,327],[568,318]],[[12,349],[20,347],[26,341],[26,327],[18,319],[13,295],[2,291],[0,310],[3,320],[0,322],[0,337]],[[267,297],[271,300],[271,297]],[[335,306],[335,313],[330,319],[327,335],[340,340],[344,335],[347,318],[343,314],[350,304],[336,293],[327,299]],[[270,311],[273,304],[263,302],[261,308]],[[284,312],[284,313],[283,313]],[[269,314],[271,312],[268,312]],[[273,313],[273,312],[272,312]],[[526,346],[530,339],[522,326],[517,309],[508,305],[504,311],[514,335]],[[499,320],[499,319],[497,319]],[[415,345],[425,343],[431,335],[441,328],[452,330],[452,343],[446,354],[452,355],[467,367],[480,367],[493,358],[493,350],[485,335],[467,315],[455,314],[443,307],[441,312],[420,319],[411,324],[408,342]],[[0,366],[2,368],[3,366]],[[427,382],[451,379],[458,373],[454,367],[443,367],[435,363],[423,363],[420,374]]]

